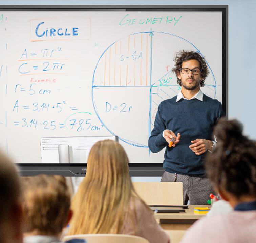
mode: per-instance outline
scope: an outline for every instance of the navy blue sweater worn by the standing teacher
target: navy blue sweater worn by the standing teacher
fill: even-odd
[[[217,120],[225,116],[222,105],[204,94],[203,101],[181,99],[177,96],[164,100],[158,106],[154,128],[148,140],[149,149],[157,153],[165,147],[163,167],[170,173],[204,177],[204,156],[196,155],[190,148],[192,140],[212,140],[212,130]],[[180,133],[180,141],[169,148],[162,133],[165,129]]]

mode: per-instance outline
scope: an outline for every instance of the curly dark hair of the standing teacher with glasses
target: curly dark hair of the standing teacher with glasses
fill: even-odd
[[[201,56],[198,52],[182,50],[176,53],[176,56],[174,57],[173,60],[175,61],[175,66],[172,69],[172,71],[175,72],[176,76],[178,75],[178,73],[180,73],[180,69],[182,68],[182,63],[184,61],[189,61],[189,60],[199,61],[200,69],[201,69],[201,77],[202,77],[200,86],[204,87],[205,79],[210,72],[208,70],[208,66],[203,56]],[[177,83],[181,86],[181,80],[178,79],[178,76],[177,76]]]

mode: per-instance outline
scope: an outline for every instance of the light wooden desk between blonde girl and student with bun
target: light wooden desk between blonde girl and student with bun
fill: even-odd
[[[185,213],[156,213],[155,219],[167,232],[172,243],[179,243],[187,229],[206,214],[194,213],[194,207],[208,207],[209,205],[189,205]]]

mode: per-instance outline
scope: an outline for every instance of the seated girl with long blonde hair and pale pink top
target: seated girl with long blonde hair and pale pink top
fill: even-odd
[[[68,235],[129,234],[151,243],[170,242],[153,213],[135,192],[128,157],[116,141],[93,145],[84,180],[74,195]]]

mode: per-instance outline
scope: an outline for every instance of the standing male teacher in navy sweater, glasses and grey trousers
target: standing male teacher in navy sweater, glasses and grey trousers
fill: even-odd
[[[214,147],[213,127],[225,113],[219,101],[200,90],[209,74],[204,58],[183,50],[174,61],[172,71],[181,90],[158,106],[148,145],[153,153],[166,148],[161,181],[183,182],[183,203],[189,200],[191,205],[205,205],[213,190],[205,178],[204,155]]]

